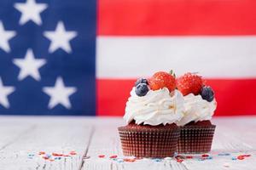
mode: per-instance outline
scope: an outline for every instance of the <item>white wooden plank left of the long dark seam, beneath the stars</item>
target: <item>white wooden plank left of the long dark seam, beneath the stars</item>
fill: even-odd
[[[7,121],[9,122],[9,121]],[[9,122],[11,124],[11,122]],[[23,127],[24,122],[15,122]],[[0,169],[79,169],[84,152],[88,147],[91,127],[79,120],[66,119],[27,119],[32,128],[20,138],[13,138],[11,144],[0,153]],[[49,161],[39,156],[40,151],[48,154],[77,155],[61,157],[61,160]]]

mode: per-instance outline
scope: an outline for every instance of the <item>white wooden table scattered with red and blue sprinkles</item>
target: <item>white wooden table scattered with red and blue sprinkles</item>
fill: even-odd
[[[212,122],[217,129],[209,156],[178,162],[122,156],[117,127],[125,123],[118,117],[0,116],[0,170],[256,169],[256,116]]]

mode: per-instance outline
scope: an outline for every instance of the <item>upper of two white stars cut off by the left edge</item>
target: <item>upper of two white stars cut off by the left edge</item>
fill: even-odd
[[[10,52],[9,39],[15,37],[15,35],[15,31],[5,31],[3,22],[0,20],[0,48],[2,48],[6,53]]]

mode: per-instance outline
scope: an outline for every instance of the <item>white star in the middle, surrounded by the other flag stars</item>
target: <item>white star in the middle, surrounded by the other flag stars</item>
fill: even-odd
[[[20,74],[18,76],[20,81],[28,76],[33,77],[37,81],[41,80],[38,69],[46,63],[46,60],[35,59],[32,49],[26,51],[24,59],[14,59],[13,62],[20,67]]]

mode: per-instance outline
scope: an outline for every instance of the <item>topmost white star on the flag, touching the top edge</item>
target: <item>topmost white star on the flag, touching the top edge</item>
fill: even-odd
[[[20,11],[20,25],[32,20],[38,26],[42,25],[40,13],[47,8],[46,3],[36,3],[35,0],[26,0],[26,3],[15,3],[15,8]]]

